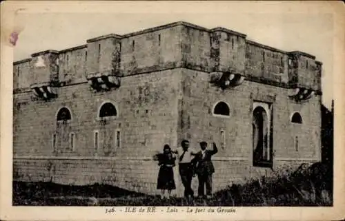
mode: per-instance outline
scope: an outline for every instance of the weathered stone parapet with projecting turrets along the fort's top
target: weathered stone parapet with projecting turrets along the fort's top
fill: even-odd
[[[170,23],[130,34],[88,39],[86,45],[32,54],[14,62],[14,91],[32,85],[63,86],[97,76],[128,76],[176,67],[230,72],[279,87],[321,94],[322,63],[304,52],[284,52],[225,28]],[[30,88],[31,87],[31,88]]]

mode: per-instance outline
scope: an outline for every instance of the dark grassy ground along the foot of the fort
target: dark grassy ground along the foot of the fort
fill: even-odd
[[[249,180],[215,193],[212,199],[147,196],[110,185],[68,186],[13,182],[13,205],[41,206],[332,206],[333,168],[315,163],[296,171]]]

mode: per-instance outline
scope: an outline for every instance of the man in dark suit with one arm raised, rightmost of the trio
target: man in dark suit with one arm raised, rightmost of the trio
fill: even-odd
[[[200,198],[205,196],[205,186],[207,198],[212,197],[212,174],[215,172],[215,167],[213,167],[211,157],[218,152],[215,143],[213,143],[213,150],[206,149],[206,147],[207,143],[202,141],[200,143],[201,151],[197,153],[194,159],[197,162],[196,173],[199,180],[198,196]]]

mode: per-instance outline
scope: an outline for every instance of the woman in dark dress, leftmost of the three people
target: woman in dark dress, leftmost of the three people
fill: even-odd
[[[164,198],[165,190],[168,190],[170,198],[171,190],[176,189],[174,180],[174,171],[176,157],[172,154],[169,145],[164,145],[163,154],[159,154],[159,173],[157,180],[157,189],[161,189],[161,198]]]

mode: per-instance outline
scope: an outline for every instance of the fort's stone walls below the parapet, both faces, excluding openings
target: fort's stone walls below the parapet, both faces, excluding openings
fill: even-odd
[[[282,88],[245,81],[234,89],[220,90],[208,78],[205,72],[174,69],[127,76],[119,89],[110,92],[95,93],[86,84],[61,87],[59,98],[48,103],[31,101],[29,94],[16,95],[14,178],[76,185],[99,182],[156,193],[158,167],[152,156],[165,143],[177,147],[183,138],[195,149],[201,140],[217,143],[214,191],[266,175],[270,169],[253,167],[250,120],[253,99],[267,94],[276,97],[274,167],[319,160],[318,98],[301,105],[289,101]],[[115,103],[118,116],[104,124],[97,113],[106,101]],[[214,116],[218,101],[230,106],[228,118]],[[63,106],[72,112],[70,131],[75,133],[75,149],[56,153],[52,134],[56,133],[57,111]],[[301,113],[303,125],[290,123],[290,114],[295,111]],[[117,129],[121,131],[120,148],[110,136]],[[97,150],[93,146],[95,130],[107,134],[100,136]],[[220,131],[225,133],[224,146],[219,145]],[[295,136],[299,136],[298,151]],[[175,181],[181,194],[177,167]],[[197,187],[197,179],[193,187]]]

